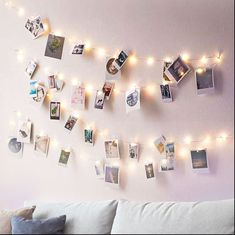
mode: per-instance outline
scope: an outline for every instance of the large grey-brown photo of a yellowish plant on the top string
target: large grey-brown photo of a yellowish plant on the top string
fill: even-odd
[[[59,37],[56,35],[49,34],[46,45],[45,56],[55,59],[61,59],[64,47],[64,40],[65,40],[64,37]]]

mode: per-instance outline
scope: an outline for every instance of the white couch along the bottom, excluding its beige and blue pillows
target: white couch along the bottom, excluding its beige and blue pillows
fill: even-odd
[[[234,199],[32,203],[34,218],[67,215],[65,234],[234,234]]]

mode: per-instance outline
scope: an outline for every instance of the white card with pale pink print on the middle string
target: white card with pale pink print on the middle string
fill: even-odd
[[[74,109],[84,110],[85,99],[86,99],[85,88],[81,86],[73,86],[72,96],[71,96],[71,106]]]

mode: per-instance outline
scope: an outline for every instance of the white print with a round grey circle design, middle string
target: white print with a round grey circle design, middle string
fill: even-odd
[[[126,92],[125,97],[126,112],[130,113],[140,109],[140,89],[136,88]]]

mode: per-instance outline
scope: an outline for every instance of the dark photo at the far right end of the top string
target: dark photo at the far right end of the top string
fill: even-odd
[[[198,69],[195,72],[197,94],[209,94],[214,92],[214,73],[212,68]]]

